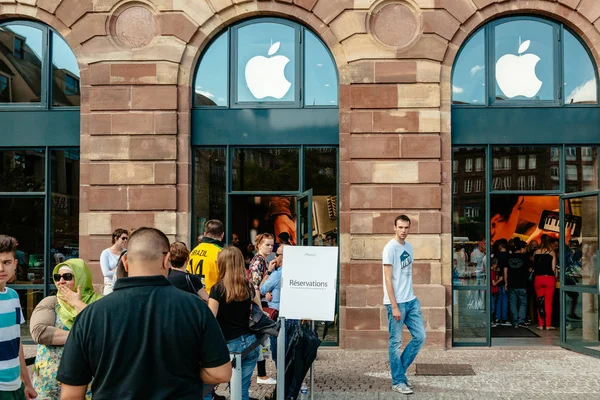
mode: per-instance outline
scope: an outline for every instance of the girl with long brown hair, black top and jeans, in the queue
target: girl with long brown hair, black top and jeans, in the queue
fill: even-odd
[[[260,307],[260,298],[248,282],[244,256],[237,247],[223,249],[217,265],[219,277],[210,290],[208,307],[217,318],[229,351],[241,353],[256,341],[248,320],[251,302]],[[242,400],[249,399],[250,380],[259,353],[260,347],[256,347],[242,359]]]

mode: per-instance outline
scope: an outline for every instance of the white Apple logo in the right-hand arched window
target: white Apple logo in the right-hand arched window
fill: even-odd
[[[496,82],[500,90],[509,98],[516,96],[533,97],[542,87],[535,75],[535,66],[540,58],[535,54],[524,54],[531,44],[524,41],[519,46],[519,55],[505,54],[496,63]]]

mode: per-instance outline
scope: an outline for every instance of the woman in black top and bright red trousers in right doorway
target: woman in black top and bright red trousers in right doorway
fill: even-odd
[[[556,253],[548,235],[542,235],[542,244],[533,253],[533,287],[538,303],[538,329],[556,329],[552,326],[552,301],[556,287]]]

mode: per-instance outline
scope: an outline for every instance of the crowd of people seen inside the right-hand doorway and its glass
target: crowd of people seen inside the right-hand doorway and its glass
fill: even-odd
[[[492,327],[521,328],[537,323],[540,330],[556,329],[552,317],[553,310],[558,307],[554,292],[559,279],[559,239],[542,234],[540,242],[538,244],[536,240],[531,240],[526,243],[518,237],[494,241],[490,256]],[[476,245],[455,244],[455,284],[487,284],[485,253],[485,241]],[[589,253],[588,249],[581,246],[578,239],[570,238],[565,258],[567,285],[580,283],[585,270],[586,253]],[[567,317],[571,320],[581,319],[576,312],[578,296],[577,292],[567,292]],[[472,291],[467,306],[485,309],[483,292]]]

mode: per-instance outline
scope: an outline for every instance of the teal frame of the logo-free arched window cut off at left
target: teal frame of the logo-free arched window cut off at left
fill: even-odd
[[[48,25],[44,25],[40,22],[34,22],[29,20],[15,19],[0,23],[0,28],[4,28],[11,25],[27,26],[35,28],[42,33],[42,68],[41,68],[41,86],[40,86],[40,101],[36,103],[0,103],[0,111],[10,110],[79,110],[80,106],[53,106],[52,105],[52,34],[56,34],[57,37],[62,40],[66,40],[62,37],[58,31]],[[24,44],[25,42],[23,42]],[[67,43],[68,44],[68,43]],[[70,48],[70,46],[69,46]],[[70,48],[71,51],[73,49]],[[74,54],[74,53],[73,53]],[[77,58],[77,57],[76,57]],[[78,63],[79,64],[79,63]],[[77,65],[79,69],[79,65]],[[81,72],[81,69],[79,69]],[[81,93],[81,78],[79,93]],[[12,97],[12,93],[11,93]]]

